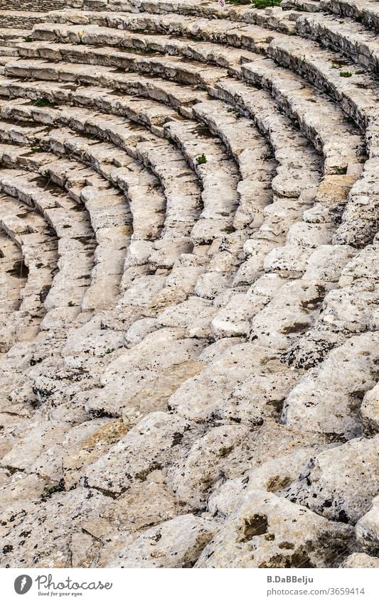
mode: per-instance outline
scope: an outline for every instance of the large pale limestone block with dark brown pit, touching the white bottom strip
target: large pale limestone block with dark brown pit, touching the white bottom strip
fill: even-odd
[[[352,536],[350,526],[252,490],[215,533],[195,567],[338,567]]]

